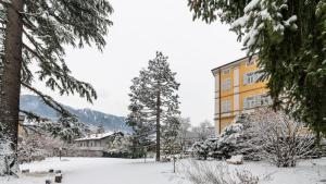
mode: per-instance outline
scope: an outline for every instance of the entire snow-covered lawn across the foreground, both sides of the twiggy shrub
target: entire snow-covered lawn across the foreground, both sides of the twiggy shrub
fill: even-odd
[[[217,161],[206,161],[215,164]],[[181,168],[189,164],[187,160],[178,162],[178,174],[174,174],[172,163],[158,163],[149,159],[111,159],[111,158],[49,158],[45,161],[21,165],[37,172],[22,175],[21,179],[1,179],[0,184],[45,184],[45,173],[49,169],[62,170],[63,184],[189,184],[183,177]],[[297,168],[275,168],[264,162],[246,162],[230,165],[229,170],[248,170],[261,179],[264,184],[326,184],[326,158],[300,162]],[[45,172],[45,173],[42,173]]]

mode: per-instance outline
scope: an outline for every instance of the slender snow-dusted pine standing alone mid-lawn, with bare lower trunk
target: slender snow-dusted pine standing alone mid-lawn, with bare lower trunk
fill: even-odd
[[[178,95],[179,84],[175,79],[167,57],[156,52],[156,57],[149,61],[147,69],[140,71],[139,76],[133,79],[131,102],[140,107],[145,122],[151,124],[156,133],[156,161],[160,161],[161,123],[179,113]]]

